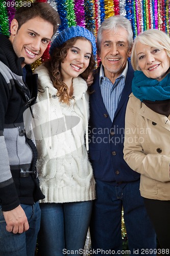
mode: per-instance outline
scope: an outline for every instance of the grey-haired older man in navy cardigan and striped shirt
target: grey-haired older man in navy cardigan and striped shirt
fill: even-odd
[[[123,155],[126,106],[133,69],[131,23],[123,16],[106,19],[98,30],[101,66],[90,87],[89,155],[96,181],[90,234],[92,248],[110,254],[122,250],[122,208],[131,255],[156,248],[154,229],[139,193],[140,175]],[[101,251],[100,251],[101,249]]]

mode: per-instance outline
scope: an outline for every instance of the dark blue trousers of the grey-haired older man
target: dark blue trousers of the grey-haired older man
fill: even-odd
[[[123,207],[130,255],[153,255],[150,252],[156,249],[156,234],[139,193],[139,182],[113,185],[96,180],[96,200],[90,222],[94,250],[115,250],[119,255],[124,254],[119,252],[122,250],[123,242]],[[147,253],[149,249],[151,250]],[[99,252],[98,255],[102,253]]]

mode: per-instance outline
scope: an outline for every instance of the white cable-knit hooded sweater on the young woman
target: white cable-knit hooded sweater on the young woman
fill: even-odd
[[[41,203],[79,202],[95,199],[95,181],[85,147],[88,147],[87,84],[73,79],[74,99],[61,103],[47,69],[38,74],[38,99],[33,110],[38,149],[37,169],[45,199]]]

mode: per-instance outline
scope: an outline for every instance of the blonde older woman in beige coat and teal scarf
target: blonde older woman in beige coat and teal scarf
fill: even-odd
[[[134,40],[135,76],[126,112],[124,158],[141,174],[140,194],[161,247],[170,249],[170,39],[151,29]]]

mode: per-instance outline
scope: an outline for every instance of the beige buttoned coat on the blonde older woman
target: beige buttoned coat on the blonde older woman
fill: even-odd
[[[126,111],[124,159],[141,174],[144,198],[170,200],[170,115],[148,108],[133,94]]]

